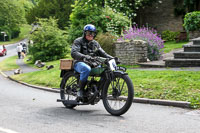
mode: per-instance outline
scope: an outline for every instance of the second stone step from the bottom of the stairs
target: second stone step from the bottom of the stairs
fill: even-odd
[[[174,52],[175,59],[200,59],[200,52]]]

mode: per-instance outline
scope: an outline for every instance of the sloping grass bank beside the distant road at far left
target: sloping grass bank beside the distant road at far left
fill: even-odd
[[[19,37],[11,39],[10,41],[6,41],[6,42],[0,41],[0,45],[17,43],[17,42],[23,40],[24,38],[27,38],[31,29],[32,29],[31,25],[28,25],[28,24],[21,25],[21,27],[20,27],[21,32],[19,34]]]

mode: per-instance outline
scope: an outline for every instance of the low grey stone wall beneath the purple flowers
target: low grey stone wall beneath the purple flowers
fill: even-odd
[[[115,55],[125,65],[147,61],[147,43],[142,40],[115,42]]]

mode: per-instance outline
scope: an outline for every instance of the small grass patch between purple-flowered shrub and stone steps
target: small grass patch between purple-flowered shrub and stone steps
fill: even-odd
[[[189,42],[178,42],[176,41],[169,41],[164,43],[164,53],[169,53],[170,51],[178,48],[182,48],[184,44],[187,44]]]

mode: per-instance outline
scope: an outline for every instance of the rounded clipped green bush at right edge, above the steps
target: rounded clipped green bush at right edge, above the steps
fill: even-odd
[[[200,11],[187,13],[184,17],[184,24],[186,31],[200,30]]]

